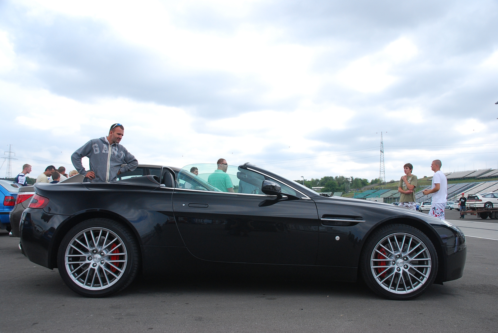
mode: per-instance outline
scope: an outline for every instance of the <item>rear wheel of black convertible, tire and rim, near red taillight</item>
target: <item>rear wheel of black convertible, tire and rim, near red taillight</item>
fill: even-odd
[[[139,261],[131,231],[109,219],[78,223],[64,236],[57,252],[62,279],[86,297],[106,297],[126,288],[137,275]]]

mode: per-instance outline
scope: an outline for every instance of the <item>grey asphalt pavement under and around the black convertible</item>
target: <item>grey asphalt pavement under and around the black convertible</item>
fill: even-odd
[[[377,297],[361,282],[204,276],[139,279],[115,296],[84,298],[24,257],[18,241],[0,233],[0,332],[498,332],[492,239],[467,237],[463,277],[411,301]]]

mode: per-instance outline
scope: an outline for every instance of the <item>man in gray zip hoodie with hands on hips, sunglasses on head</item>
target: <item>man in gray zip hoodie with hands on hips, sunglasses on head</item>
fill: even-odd
[[[107,137],[92,139],[71,155],[71,161],[80,174],[94,182],[112,182],[122,172],[133,171],[138,165],[135,156],[131,155],[120,143],[124,135],[122,124],[115,123]],[[90,171],[86,171],[81,159],[90,159]],[[127,164],[121,167],[122,164]]]

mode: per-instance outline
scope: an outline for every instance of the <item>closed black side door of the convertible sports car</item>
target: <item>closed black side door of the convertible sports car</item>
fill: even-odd
[[[237,178],[234,187],[239,188]],[[312,200],[276,200],[257,190],[199,188],[193,184],[173,192],[175,221],[194,256],[222,262],[315,264],[320,222]]]

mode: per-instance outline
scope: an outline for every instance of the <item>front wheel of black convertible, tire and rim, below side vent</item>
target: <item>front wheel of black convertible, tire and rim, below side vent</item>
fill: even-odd
[[[422,295],[434,282],[437,270],[438,257],[430,239],[406,224],[388,224],[375,230],[360,257],[360,271],[367,286],[391,300],[411,300]]]

